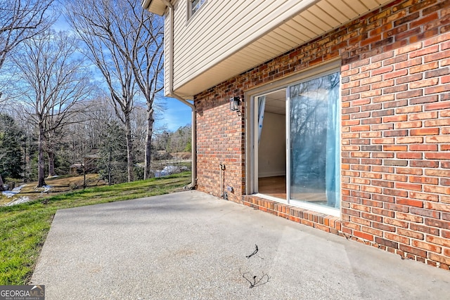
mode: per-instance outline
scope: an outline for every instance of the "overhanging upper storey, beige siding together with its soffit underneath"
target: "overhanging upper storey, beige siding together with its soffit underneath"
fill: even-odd
[[[207,0],[188,18],[188,0],[179,0],[174,90],[193,96],[389,1]]]

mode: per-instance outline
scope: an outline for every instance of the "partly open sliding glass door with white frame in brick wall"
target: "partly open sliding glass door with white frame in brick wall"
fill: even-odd
[[[338,216],[340,72],[302,75],[252,98],[250,193]]]

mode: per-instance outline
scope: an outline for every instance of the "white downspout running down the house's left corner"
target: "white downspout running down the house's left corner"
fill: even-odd
[[[150,5],[151,0],[143,0],[145,4]],[[174,92],[174,6],[170,3],[170,1],[162,0],[162,2],[169,8],[169,22],[170,22],[170,40],[169,40],[169,97],[176,98],[191,107],[192,110],[192,125],[191,125],[191,160],[192,160],[192,181],[191,184],[188,185],[188,188],[193,189],[195,185],[197,185],[197,109],[193,103],[189,103],[186,99],[179,96]],[[148,7],[148,6],[147,6]]]

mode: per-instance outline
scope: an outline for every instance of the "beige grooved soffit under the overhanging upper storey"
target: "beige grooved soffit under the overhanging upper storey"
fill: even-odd
[[[392,1],[318,1],[294,18],[286,20],[257,40],[240,48],[229,58],[221,60],[201,74],[186,79],[178,86],[175,84],[174,90],[181,96],[196,95]]]

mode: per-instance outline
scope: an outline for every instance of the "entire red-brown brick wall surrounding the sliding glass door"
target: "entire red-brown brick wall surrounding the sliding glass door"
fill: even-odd
[[[449,268],[450,1],[399,0],[195,96],[198,189]],[[342,219],[245,191],[245,111],[228,99],[342,62]]]

